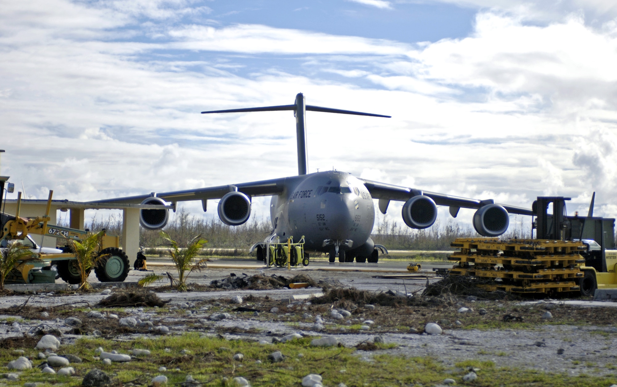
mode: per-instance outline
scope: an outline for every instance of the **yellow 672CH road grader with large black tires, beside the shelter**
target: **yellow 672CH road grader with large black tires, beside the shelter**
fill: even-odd
[[[75,228],[49,225],[51,219],[49,210],[53,191],[49,192],[46,214],[43,217],[23,218],[20,217],[21,193],[17,195],[17,212],[15,216],[0,214],[2,230],[0,232],[0,244],[5,246],[7,241],[25,241],[28,235],[52,236],[54,238],[74,239],[80,241],[88,234],[88,231]],[[119,248],[117,236],[104,234],[99,244],[99,256],[105,256],[99,260],[94,273],[101,282],[124,281],[128,275],[129,261],[125,252]],[[15,265],[15,270],[7,276],[7,281],[12,283],[54,283],[56,281],[56,268],[62,280],[68,283],[80,283],[80,272],[77,267],[75,255],[67,252],[46,254],[43,249],[33,249],[33,254],[38,256],[36,260],[21,262]]]

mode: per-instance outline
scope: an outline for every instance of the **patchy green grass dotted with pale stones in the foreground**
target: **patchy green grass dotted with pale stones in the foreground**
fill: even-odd
[[[462,385],[462,377],[470,368],[475,368],[478,380],[475,386],[555,386],[555,387],[605,387],[617,381],[616,377],[571,377],[567,373],[544,373],[518,368],[500,368],[493,362],[467,360],[446,367],[431,357],[405,358],[391,354],[373,354],[371,361],[363,360],[355,354],[354,348],[311,347],[310,338],[290,343],[260,345],[249,341],[227,341],[220,338],[200,337],[197,333],[182,336],[162,336],[159,338],[137,338],[133,341],[112,341],[102,338],[78,339],[75,345],[63,346],[60,354],[72,353],[80,356],[82,364],[72,364],[78,372],[75,377],[46,375],[38,369],[22,372],[19,381],[6,381],[9,386],[23,385],[38,381],[39,387],[67,383],[78,386],[83,375],[93,368],[99,368],[109,375],[116,375],[123,384],[148,385],[150,380],[161,372],[158,368],[167,367],[162,372],[169,379],[168,385],[184,381],[186,375],[205,381],[205,386],[231,386],[233,377],[247,378],[252,386],[299,386],[302,377],[309,373],[320,373],[326,386],[345,383],[347,386],[410,386],[436,385],[445,378],[453,378]],[[149,349],[152,354],[131,360],[129,363],[103,365],[94,359],[94,349],[102,346],[106,351],[116,350],[128,353],[133,348]],[[388,349],[390,344],[378,344],[380,349]],[[168,352],[165,349],[168,348]],[[181,350],[188,349],[187,355]],[[1,349],[0,361],[6,364],[15,359],[12,350]],[[283,352],[286,359],[271,363],[267,357],[273,351]],[[35,356],[33,349],[26,355]],[[233,355],[241,352],[244,360],[237,362]],[[257,364],[256,360],[261,360]],[[35,360],[35,365],[40,360]],[[176,370],[180,368],[180,370]],[[344,370],[344,372],[341,372]],[[2,372],[6,372],[2,370]],[[225,380],[226,378],[226,380]]]

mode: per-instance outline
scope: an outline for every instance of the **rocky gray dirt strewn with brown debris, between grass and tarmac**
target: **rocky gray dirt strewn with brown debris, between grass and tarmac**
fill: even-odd
[[[247,276],[271,273],[243,270]],[[204,274],[207,277],[204,277]],[[139,273],[131,273],[133,279]],[[143,274],[142,274],[143,275]],[[240,273],[238,273],[240,275]],[[229,276],[229,270],[209,270],[195,277],[193,291],[178,293],[164,283],[149,288],[112,289],[111,296],[133,292],[157,296],[162,306],[97,306],[109,296],[70,291],[14,294],[0,297],[0,348],[33,347],[38,337],[52,333],[62,343],[81,337],[120,341],[197,332],[201,335],[248,341],[276,341],[284,335],[336,336],[342,346],[357,347],[357,356],[370,361],[388,356],[431,357],[444,365],[467,360],[491,361],[499,367],[520,367],[568,375],[614,375],[617,368],[617,304],[607,307],[573,306],[560,300],[518,298],[484,300],[453,295],[421,296],[424,280],[373,278],[375,273],[308,273],[315,285],[325,286],[324,296],[294,301],[290,296],[319,293],[319,287],[214,289],[212,280]],[[434,282],[439,278],[429,280]],[[412,298],[386,294],[415,293]],[[141,292],[141,293],[140,293]],[[241,296],[240,304],[233,296]],[[135,301],[136,298],[130,298]],[[25,305],[24,305],[25,304]],[[465,312],[459,312],[466,308]],[[348,317],[337,320],[333,310]],[[89,317],[89,312],[102,317]],[[48,317],[41,317],[46,312]],[[545,318],[550,312],[551,318]],[[227,313],[221,320],[215,315]],[[115,316],[112,316],[115,315]],[[69,327],[77,317],[80,327]],[[142,326],[121,327],[119,320],[133,317]],[[322,323],[317,325],[317,318]],[[12,322],[19,322],[15,331]],[[426,323],[437,323],[442,335],[426,335]],[[168,331],[160,330],[168,328]],[[375,346],[380,336],[389,347]]]

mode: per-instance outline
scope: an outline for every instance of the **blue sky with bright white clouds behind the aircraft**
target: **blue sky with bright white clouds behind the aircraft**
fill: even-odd
[[[199,112],[302,92],[308,104],[392,115],[309,112],[310,172],[524,207],[571,196],[570,213],[597,191],[596,214],[617,216],[614,1],[0,5],[1,173],[28,198],[294,175],[291,112]]]

